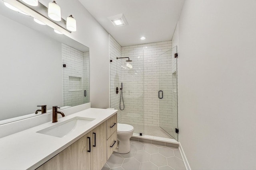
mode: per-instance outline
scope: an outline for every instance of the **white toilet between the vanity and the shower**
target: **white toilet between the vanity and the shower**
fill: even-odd
[[[130,137],[132,137],[134,128],[132,125],[117,123],[117,141],[118,145],[114,152],[125,154],[130,152]]]

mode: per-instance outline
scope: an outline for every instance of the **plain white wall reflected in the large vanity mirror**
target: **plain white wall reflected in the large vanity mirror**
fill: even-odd
[[[0,22],[0,120],[62,106],[61,43],[2,15]]]

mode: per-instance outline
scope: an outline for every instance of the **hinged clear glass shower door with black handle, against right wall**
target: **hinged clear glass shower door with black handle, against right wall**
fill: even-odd
[[[174,58],[176,47],[161,54],[159,59],[159,126],[178,140],[175,128],[178,128],[177,116],[177,61]]]

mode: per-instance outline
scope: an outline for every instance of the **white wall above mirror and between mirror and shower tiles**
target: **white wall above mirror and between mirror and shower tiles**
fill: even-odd
[[[42,2],[47,4],[47,2]],[[72,14],[77,31],[70,37],[90,48],[90,102],[92,107],[109,107],[108,32],[92,17],[78,0],[58,1],[62,18]]]

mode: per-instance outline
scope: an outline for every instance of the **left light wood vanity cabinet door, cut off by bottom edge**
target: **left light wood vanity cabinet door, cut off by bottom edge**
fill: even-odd
[[[89,139],[87,137],[90,137],[90,133],[62,150],[62,152],[42,164],[37,170],[90,170],[91,155],[88,152]]]

